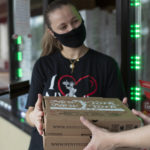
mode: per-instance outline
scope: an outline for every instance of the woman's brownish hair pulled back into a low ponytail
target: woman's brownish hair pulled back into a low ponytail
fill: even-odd
[[[46,29],[45,29],[45,33],[43,35],[42,38],[42,53],[41,56],[45,56],[48,54],[52,54],[58,50],[62,50],[62,45],[61,43],[55,39],[49,32],[48,29],[51,30],[51,23],[49,20],[49,14],[53,11],[55,11],[58,8],[61,8],[64,5],[73,5],[72,2],[70,2],[69,0],[54,0],[53,2],[51,2],[45,13],[44,13],[44,19],[45,19],[45,23],[46,23]],[[74,6],[75,7],[75,6]]]

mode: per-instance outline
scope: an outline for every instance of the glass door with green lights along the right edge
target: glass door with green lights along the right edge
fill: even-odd
[[[129,0],[129,100],[150,114],[150,0]]]

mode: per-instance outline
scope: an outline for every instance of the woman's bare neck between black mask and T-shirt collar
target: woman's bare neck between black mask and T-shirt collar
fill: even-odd
[[[81,46],[78,48],[63,47],[61,54],[67,59],[78,59],[86,54],[89,48]]]

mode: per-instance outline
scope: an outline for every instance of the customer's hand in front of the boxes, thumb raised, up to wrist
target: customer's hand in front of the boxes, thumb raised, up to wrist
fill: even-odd
[[[115,144],[113,144],[114,133],[96,127],[84,117],[80,117],[80,120],[92,133],[92,139],[84,150],[113,150],[115,148]]]

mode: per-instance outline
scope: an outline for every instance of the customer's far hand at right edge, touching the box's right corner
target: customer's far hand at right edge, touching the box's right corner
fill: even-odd
[[[143,114],[141,111],[137,111],[135,109],[132,109],[132,113],[134,115],[136,115],[137,117],[140,117],[145,125],[150,124],[150,117],[148,117],[147,115]]]

